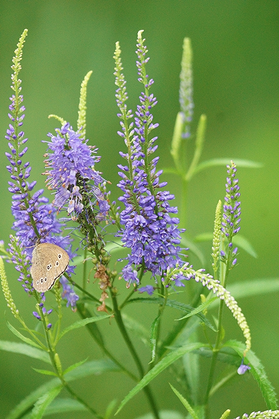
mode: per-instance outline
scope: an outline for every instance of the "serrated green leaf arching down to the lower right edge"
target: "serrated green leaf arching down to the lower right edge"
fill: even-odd
[[[233,348],[240,357],[242,357],[243,351],[246,348],[243,343],[236,340],[229,340],[225,343],[224,346]],[[247,352],[246,359],[251,367],[250,371],[259,385],[267,408],[271,410],[278,409],[276,394],[274,392],[273,386],[267,378],[261,361],[258,357],[256,357],[255,353],[251,349]]]

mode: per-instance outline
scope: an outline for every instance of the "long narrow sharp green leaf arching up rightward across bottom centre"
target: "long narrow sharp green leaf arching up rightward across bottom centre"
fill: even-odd
[[[185,353],[190,352],[191,350],[198,349],[200,347],[204,346],[204,343],[192,343],[189,345],[182,346],[181,348],[178,348],[176,350],[173,350],[172,352],[168,353],[165,358],[163,358],[161,361],[158,362],[158,364],[155,365],[155,367],[152,368],[143,378],[140,382],[136,384],[136,386],[127,394],[127,396],[122,400],[120,403],[120,406],[117,410],[117,413],[120,412],[122,407],[125,406],[125,404],[138,392],[140,392],[150,381],[152,381],[155,377],[157,377],[160,372],[164,371],[169,365],[171,365],[173,362],[177,361],[179,358],[181,358]]]

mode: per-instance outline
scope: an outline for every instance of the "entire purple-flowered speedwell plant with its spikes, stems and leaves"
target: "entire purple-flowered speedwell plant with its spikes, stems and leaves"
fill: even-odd
[[[232,161],[227,165],[223,211],[221,201],[216,209],[212,246],[213,271],[207,272],[204,267],[196,269],[187,260],[185,239],[181,239],[182,235],[186,234],[185,229],[180,228],[177,206],[171,204],[175,196],[166,190],[167,182],[160,179],[163,171],[157,169],[160,142],[154,134],[158,123],[153,121],[153,108],[157,104],[157,99],[152,93],[154,81],[147,75],[149,57],[142,33],[142,30],[138,32],[136,43],[136,67],[141,90],[135,112],[127,106],[128,95],[119,43],[116,43],[114,54],[116,101],[121,126],[118,134],[123,140],[120,155],[124,159],[124,162],[118,165],[120,179],[115,181],[121,190],[118,197],[120,206],[116,204],[117,199],[110,202],[110,192],[106,189],[108,184],[106,176],[98,171],[100,156],[97,155],[97,146],[91,146],[86,138],[86,87],[92,72],[85,76],[81,85],[77,128],[63,118],[52,115],[61,123],[54,134],[48,134],[49,140],[46,142],[48,149],[45,154],[44,174],[48,189],[53,194],[53,202],[49,204],[44,190],[33,192],[36,182],[29,183],[27,180],[30,176],[30,164],[22,160],[27,152],[25,146],[27,139],[24,138],[21,128],[19,129],[23,123],[24,108],[18,73],[26,30],[15,51],[12,76],[12,88],[15,94],[12,96],[9,114],[11,124],[7,131],[10,152],[6,155],[9,159],[8,171],[11,176],[9,190],[13,193],[12,212],[15,216],[13,229],[16,235],[11,237],[9,251],[5,250],[3,244],[0,244],[0,251],[4,259],[15,264],[19,272],[19,282],[25,292],[35,298],[33,316],[36,318],[35,321],[38,320],[43,334],[27,327],[20,316],[10,292],[2,259],[0,274],[7,305],[25,331],[23,335],[8,324],[9,329],[24,341],[24,344],[18,343],[17,351],[24,350],[20,345],[36,347],[36,357],[53,367],[52,371],[38,370],[38,372],[59,378],[59,381],[49,382],[47,394],[45,386],[42,386],[35,398],[29,398],[25,402],[24,409],[32,410],[34,417],[37,417],[37,412],[43,414],[47,406],[52,403],[54,413],[61,411],[59,400],[55,410],[53,399],[64,387],[77,401],[68,402],[67,409],[70,405],[74,406],[75,410],[86,408],[98,418],[108,418],[113,407],[109,406],[104,415],[100,414],[95,407],[92,407],[92,403],[85,402],[72,390],[68,381],[109,370],[122,372],[135,382],[134,388],[122,401],[118,411],[135,394],[143,390],[152,417],[159,419],[163,414],[150,382],[160,372],[172,366],[172,370],[175,371],[172,379],[182,383],[182,388],[186,391],[181,395],[172,385],[171,389],[195,419],[203,419],[208,415],[210,399],[222,385],[237,373],[241,379],[240,375],[249,369],[260,385],[268,408],[274,410],[276,407],[274,392],[263,367],[250,349],[251,334],[247,320],[226,288],[229,273],[232,269],[238,269],[236,260],[238,248],[235,243],[240,229],[240,189],[236,179],[236,165]],[[177,168],[180,167],[180,148],[185,147],[185,141],[193,137],[191,134],[193,130],[190,130],[194,106],[191,57],[190,41],[186,39],[181,73],[181,111],[171,145],[171,154]],[[191,176],[195,173],[201,154],[204,128],[205,116],[202,116],[197,130],[196,151],[188,171]],[[179,172],[176,173],[181,175]],[[190,175],[187,179],[184,177],[183,182],[188,182]],[[182,207],[185,206],[185,202],[182,202]],[[71,226],[73,234],[80,238],[79,248],[75,252],[72,250],[72,234],[62,235],[65,225]],[[185,227],[185,219],[182,225]],[[70,266],[50,291],[55,295],[54,310],[48,304],[50,293],[39,294],[32,286],[31,253],[32,246],[38,239],[62,247],[72,260],[76,252],[84,253],[81,258],[82,278],[77,276],[73,281],[75,267]],[[112,242],[119,240],[121,245],[118,248],[126,249],[126,256],[116,262],[110,249]],[[92,269],[88,275],[86,269],[89,263]],[[94,272],[94,280],[90,280],[91,272]],[[116,286],[116,278],[123,281],[128,288],[124,296],[123,291],[120,293]],[[59,282],[62,288],[59,287]],[[196,285],[195,291],[193,292],[192,288],[191,293],[189,293],[190,282]],[[204,295],[201,294],[202,286]],[[181,297],[179,300],[178,294]],[[188,296],[187,303],[191,300],[190,304],[186,304],[185,296]],[[71,306],[81,319],[62,329],[64,302],[66,306]],[[216,320],[213,318],[212,321],[208,312],[217,302],[218,318]],[[131,318],[125,312],[126,307],[131,304],[135,306],[134,303],[157,306],[157,315],[149,320],[148,336],[138,316]],[[245,338],[245,344],[236,340],[225,341],[224,305],[236,319]],[[177,317],[180,318],[176,319],[178,321],[174,322],[170,331],[162,334],[162,318],[164,315],[171,315],[169,308],[177,310],[180,313]],[[118,351],[114,353],[109,349],[111,345],[107,346],[105,343],[97,321],[107,317],[111,317],[110,321],[116,323],[123,343],[134,362],[135,371],[127,367],[129,364],[126,360],[123,362],[119,359]],[[82,326],[86,326],[90,337],[101,348],[106,358],[92,361],[79,360],[77,364],[63,370],[56,350],[57,343],[65,333]],[[204,341],[196,339],[198,328],[204,332]],[[143,363],[139,356],[130,332],[135,332],[145,342],[149,341],[148,365]],[[14,347],[11,343],[13,350]],[[35,357],[35,354],[30,353],[30,356]],[[198,363],[201,356],[206,356],[210,362],[208,369],[199,373]],[[182,359],[185,364],[184,370]],[[231,369],[225,378],[218,381],[216,365],[219,360],[229,365]],[[74,369],[76,371],[72,373]],[[201,381],[207,382],[204,392],[199,388],[198,383]],[[103,403],[105,405],[107,399],[104,399]],[[18,414],[23,414],[20,406],[16,409],[20,412]],[[225,416],[228,414],[226,412]],[[176,415],[177,412],[171,414]]]

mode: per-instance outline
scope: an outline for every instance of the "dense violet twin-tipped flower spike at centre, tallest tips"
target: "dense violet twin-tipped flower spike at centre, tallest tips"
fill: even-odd
[[[155,277],[155,275],[162,276],[167,267],[182,264],[179,256],[181,249],[178,246],[181,240],[181,230],[178,228],[179,219],[169,215],[178,212],[177,207],[169,205],[169,201],[175,197],[168,191],[160,190],[167,183],[159,182],[159,176],[162,174],[162,171],[156,172],[159,157],[151,160],[149,158],[157,149],[154,145],[157,137],[148,138],[151,131],[158,126],[157,123],[153,123],[151,113],[157,100],[152,93],[149,94],[154,81],[153,79],[148,81],[149,77],[146,74],[145,66],[149,58],[146,57],[147,48],[144,41],[142,31],[139,31],[136,66],[138,81],[144,84],[144,92],[141,93],[140,105],[137,105],[135,112],[135,135],[131,142],[131,133],[123,129],[128,153],[120,153],[120,155],[127,160],[127,165],[118,166],[121,169],[119,172],[121,180],[118,186],[124,192],[119,200],[125,205],[120,213],[120,223],[124,227],[118,232],[118,236],[122,238],[124,246],[131,249],[126,258],[128,264],[122,270],[127,286],[131,283],[140,283],[137,272],[142,268],[152,272]],[[122,87],[119,86],[120,90],[117,89],[117,98],[124,97],[124,93],[121,92],[123,86],[122,84]],[[121,117],[125,120],[124,111]],[[127,125],[123,123],[123,128],[125,126]],[[182,276],[181,279],[185,277]],[[173,281],[178,286],[183,285],[179,278],[173,278]],[[147,287],[141,289],[142,291],[151,290]]]

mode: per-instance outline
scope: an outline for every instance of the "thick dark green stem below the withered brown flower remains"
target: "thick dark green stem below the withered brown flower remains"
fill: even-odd
[[[140,358],[138,358],[136,350],[135,350],[135,348],[134,348],[134,346],[133,346],[133,344],[132,344],[132,342],[129,338],[129,335],[128,335],[127,330],[125,328],[125,325],[123,323],[121,312],[119,310],[117,300],[116,300],[116,294],[112,290],[110,290],[110,292],[111,292],[111,296],[112,296],[114,315],[115,315],[117,326],[118,326],[118,328],[120,330],[120,333],[122,334],[122,337],[125,340],[126,345],[127,345],[128,349],[131,353],[131,356],[132,356],[132,358],[135,362],[135,365],[138,369],[138,372],[140,373],[140,377],[143,378],[144,375],[145,375],[144,368],[143,368],[143,365],[141,363]],[[150,403],[150,406],[151,406],[151,409],[153,411],[153,414],[154,414],[155,418],[160,419],[158,409],[157,409],[157,406],[156,406],[156,403],[155,403],[155,400],[153,398],[153,395],[152,395],[152,392],[151,392],[151,389],[150,389],[149,385],[146,385],[145,388],[143,389],[143,391],[146,394],[146,397],[147,397],[147,399]]]

